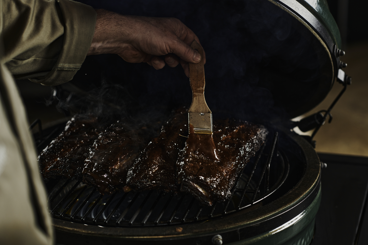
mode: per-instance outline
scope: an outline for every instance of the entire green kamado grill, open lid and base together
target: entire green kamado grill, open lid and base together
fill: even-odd
[[[219,116],[261,123],[268,128],[268,137],[237,177],[231,198],[212,206],[201,206],[189,194],[152,190],[101,195],[96,188],[81,181],[49,180],[46,186],[57,242],[310,244],[321,202],[321,163],[313,149],[312,137],[328,117],[331,120],[332,107],[351,83],[341,69],[346,66],[339,59],[344,52],[338,48],[341,47],[339,30],[327,5],[324,1],[219,1],[198,2],[193,10],[190,3],[178,2],[182,6],[169,6],[160,12],[156,8],[162,7],[162,1],[155,3],[155,9],[150,4],[153,3],[137,9],[130,6],[132,13],[127,14],[178,17],[198,34],[207,52],[206,100],[213,108],[214,116],[217,112]],[[180,11],[177,10],[179,7]],[[216,10],[222,11],[223,21],[213,16]],[[212,26],[211,23],[215,24]],[[208,31],[204,31],[204,25]],[[214,36],[207,36],[212,32]],[[236,35],[231,38],[229,33]],[[211,42],[210,39],[215,40]],[[229,53],[229,49],[236,51],[230,51],[233,56],[229,54],[230,58],[235,57],[234,64],[222,64],[225,68],[231,67],[228,71],[221,71],[218,64],[210,63],[211,54],[220,50]],[[229,63],[226,60],[229,57],[219,56]],[[256,60],[255,57],[260,58]],[[236,63],[243,58],[247,70],[239,68],[241,65]],[[72,84],[57,86],[54,96],[67,105],[74,101],[73,108],[76,104],[82,105],[78,108],[82,111],[102,102],[129,112],[127,108],[136,105],[127,102],[127,97],[137,97],[141,104],[147,101],[155,104],[152,98],[162,95],[162,91],[176,96],[160,96],[160,100],[170,97],[157,102],[160,108],[172,109],[178,101],[188,102],[182,95],[190,89],[188,81],[176,77],[182,71],[172,69],[153,73],[145,64],[123,64],[123,68],[114,72],[106,68],[105,80],[124,78],[123,84],[131,93],[124,94],[127,95],[124,106],[109,97],[86,100],[85,91],[89,90],[86,88],[101,80],[95,74],[101,70],[96,67],[107,62],[103,59],[106,57],[102,61],[87,59]],[[173,78],[179,80],[179,85],[172,85],[170,79]],[[150,87],[149,83],[153,80],[163,82],[162,87],[152,89],[154,86]],[[330,108],[300,122],[289,121],[319,104],[335,80],[343,84],[343,90]],[[131,92],[137,91],[135,86],[146,86],[147,89],[139,89],[136,96]],[[234,88],[237,91],[234,92]],[[239,94],[239,91],[248,94]],[[230,94],[233,100],[226,99],[231,97]],[[64,126],[65,122],[35,134],[38,150],[42,151]],[[302,131],[315,130],[312,137],[304,138],[293,132],[296,126]]]

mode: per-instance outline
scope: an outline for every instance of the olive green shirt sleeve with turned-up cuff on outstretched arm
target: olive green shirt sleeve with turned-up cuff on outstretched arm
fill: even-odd
[[[71,0],[3,0],[2,62],[16,79],[70,81],[92,43],[96,11]]]

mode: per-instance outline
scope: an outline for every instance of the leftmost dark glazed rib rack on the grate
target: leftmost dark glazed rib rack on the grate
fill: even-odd
[[[68,121],[64,131],[38,156],[42,176],[81,179],[84,160],[99,133],[96,125],[97,118],[93,116],[77,115]]]

